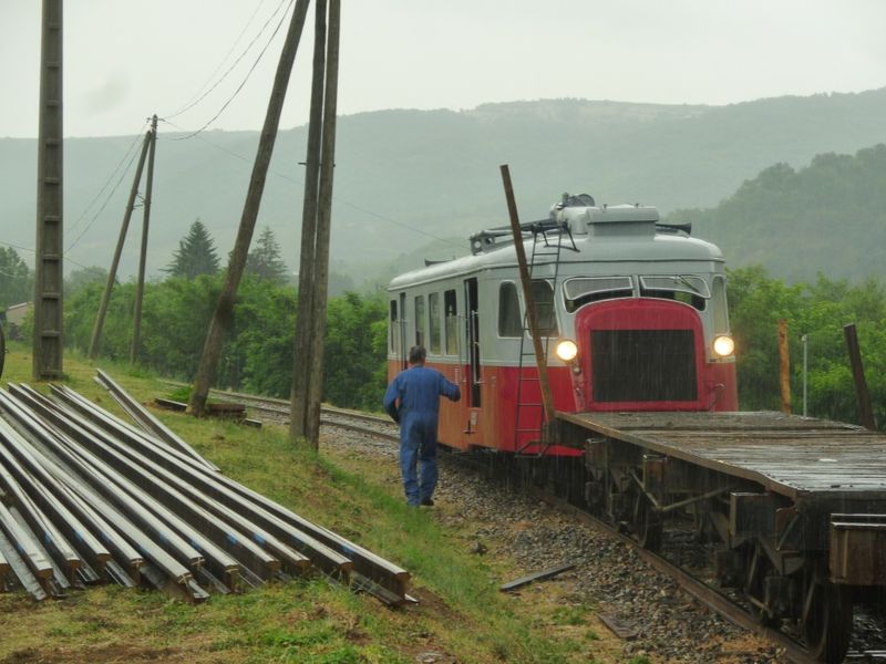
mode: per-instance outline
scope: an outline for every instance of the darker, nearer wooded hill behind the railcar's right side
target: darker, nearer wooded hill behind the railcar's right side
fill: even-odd
[[[789,281],[886,277],[886,145],[817,155],[806,168],[775,164],[719,206],[676,210],[718,243],[732,267],[762,264]]]

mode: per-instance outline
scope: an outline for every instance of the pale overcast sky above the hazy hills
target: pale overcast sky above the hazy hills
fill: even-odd
[[[41,4],[0,0],[0,136],[37,135]],[[549,97],[729,104],[886,85],[884,0],[342,6],[342,114]],[[152,113],[174,128],[203,126],[244,82],[289,7],[290,0],[65,2],[64,134],[135,134]],[[212,128],[260,128],[286,22]],[[312,12],[284,128],[306,122],[311,32]],[[173,115],[219,79],[205,98]]]

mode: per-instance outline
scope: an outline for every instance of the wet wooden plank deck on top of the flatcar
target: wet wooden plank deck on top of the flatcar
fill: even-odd
[[[886,435],[772,412],[558,413],[565,422],[790,497],[886,495]]]

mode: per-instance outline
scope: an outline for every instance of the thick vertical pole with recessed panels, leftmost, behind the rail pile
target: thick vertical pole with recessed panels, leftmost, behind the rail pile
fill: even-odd
[[[63,363],[62,54],[62,0],[43,0],[32,363],[37,381],[61,377]]]

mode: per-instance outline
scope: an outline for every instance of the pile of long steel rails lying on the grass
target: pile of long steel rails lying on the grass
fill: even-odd
[[[0,392],[0,590],[100,582],[187,601],[322,573],[399,604],[409,572],[225,477],[110,376],[136,425],[62,386]]]

